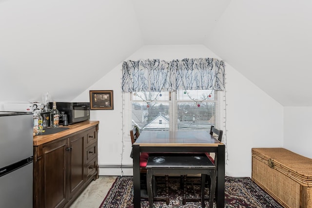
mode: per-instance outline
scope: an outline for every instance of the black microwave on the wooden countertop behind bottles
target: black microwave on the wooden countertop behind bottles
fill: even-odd
[[[52,109],[53,103],[49,102]],[[59,113],[67,114],[68,124],[74,124],[90,119],[90,102],[57,102]],[[59,124],[63,121],[60,119]]]

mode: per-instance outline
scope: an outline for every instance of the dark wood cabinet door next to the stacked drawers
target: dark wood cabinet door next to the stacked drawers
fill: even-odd
[[[83,168],[84,168],[84,138],[86,133],[80,133],[69,138],[70,161],[69,161],[69,199],[83,185]]]

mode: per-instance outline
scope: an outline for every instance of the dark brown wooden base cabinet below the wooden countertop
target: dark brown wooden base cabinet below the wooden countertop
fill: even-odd
[[[34,208],[66,208],[98,178],[98,123],[34,145]]]

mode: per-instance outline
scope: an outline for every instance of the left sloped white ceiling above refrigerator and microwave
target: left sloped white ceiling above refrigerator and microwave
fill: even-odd
[[[129,0],[0,1],[0,101],[71,101],[142,45]]]

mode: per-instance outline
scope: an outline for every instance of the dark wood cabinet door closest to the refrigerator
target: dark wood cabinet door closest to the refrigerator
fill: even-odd
[[[44,207],[63,207],[66,203],[67,139],[42,148]]]

